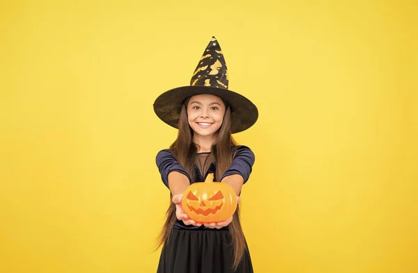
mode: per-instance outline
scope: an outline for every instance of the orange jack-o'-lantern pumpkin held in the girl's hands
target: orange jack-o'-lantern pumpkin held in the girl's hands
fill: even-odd
[[[235,213],[237,205],[233,188],[213,182],[213,174],[208,174],[204,182],[189,185],[182,198],[185,213],[199,223],[222,222]]]

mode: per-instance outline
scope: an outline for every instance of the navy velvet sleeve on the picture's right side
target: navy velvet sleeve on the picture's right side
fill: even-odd
[[[242,178],[244,178],[244,183],[247,182],[249,175],[252,172],[252,166],[254,165],[255,159],[254,153],[249,147],[243,145],[238,146],[237,153],[232,160],[231,166],[226,170],[222,179],[224,179],[225,176],[232,174],[240,174]]]

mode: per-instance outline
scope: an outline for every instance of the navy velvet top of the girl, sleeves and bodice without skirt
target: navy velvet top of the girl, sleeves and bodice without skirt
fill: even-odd
[[[212,163],[206,173],[202,176],[199,167],[195,166],[195,175],[194,175],[194,181],[190,178],[189,174],[185,172],[185,169],[183,168],[180,163],[174,158],[174,156],[171,154],[169,149],[164,149],[158,152],[157,157],[155,158],[155,161],[157,163],[157,167],[161,174],[161,179],[164,185],[169,188],[169,173],[170,172],[180,172],[187,176],[189,179],[189,182],[195,183],[195,182],[202,182],[205,181],[206,176],[210,173],[215,174],[216,171],[216,163]],[[237,147],[237,151],[235,153],[235,156],[232,160],[231,166],[229,169],[226,170],[226,172],[222,175],[222,179],[224,179],[225,176],[230,176],[232,174],[239,174],[244,179],[244,183],[246,183],[249,179],[249,175],[252,171],[252,166],[254,165],[255,156],[254,153],[249,149],[247,146],[240,145]],[[206,226],[193,226],[193,225],[185,225],[183,221],[177,220],[176,224],[174,225],[174,228],[176,229],[210,229],[206,228]],[[227,229],[227,226],[224,228]]]

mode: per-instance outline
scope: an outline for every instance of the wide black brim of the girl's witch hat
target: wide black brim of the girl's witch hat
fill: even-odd
[[[154,112],[163,122],[178,129],[183,101],[196,94],[212,94],[226,100],[231,106],[231,133],[240,133],[253,126],[258,119],[257,107],[246,97],[211,86],[183,86],[160,94],[154,102]]]

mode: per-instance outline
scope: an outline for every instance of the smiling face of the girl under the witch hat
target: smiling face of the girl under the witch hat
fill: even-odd
[[[210,136],[221,127],[225,110],[224,102],[219,97],[212,94],[193,96],[187,105],[189,125],[194,133]]]

